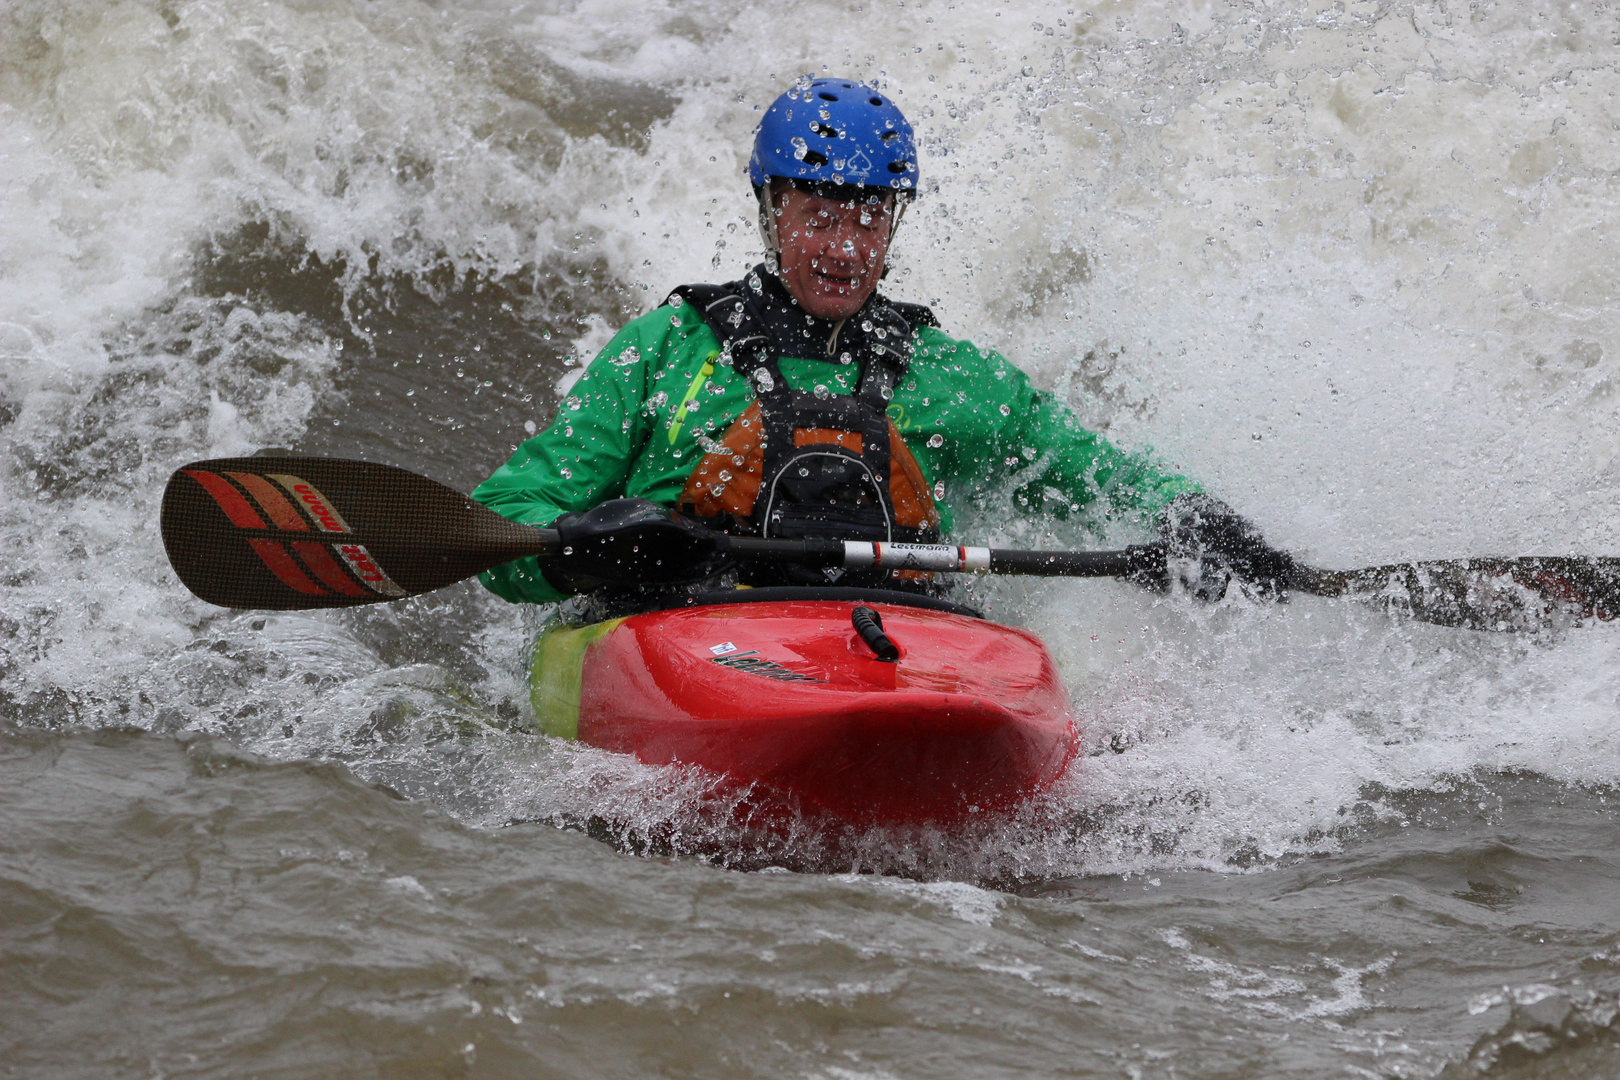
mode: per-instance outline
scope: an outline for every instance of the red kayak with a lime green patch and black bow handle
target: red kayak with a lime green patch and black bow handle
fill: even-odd
[[[700,601],[543,635],[541,729],[859,824],[1011,810],[1076,753],[1068,695],[1024,630],[888,591]],[[868,635],[881,623],[876,638],[855,625],[860,609],[875,615]]]

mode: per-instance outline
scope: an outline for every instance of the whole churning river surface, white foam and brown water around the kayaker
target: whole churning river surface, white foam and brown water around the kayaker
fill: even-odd
[[[1620,627],[970,586],[1085,727],[961,834],[526,733],[551,615],[214,609],[258,447],[471,487],[883,84],[889,279],[1315,565],[1620,554],[1597,0],[0,3],[0,1075],[1612,1077]],[[1013,492],[962,539],[1072,544]],[[1131,536],[1094,538],[1108,542]]]

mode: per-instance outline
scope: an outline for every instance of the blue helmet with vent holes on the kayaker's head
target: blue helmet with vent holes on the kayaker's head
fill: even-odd
[[[917,141],[899,107],[849,79],[800,79],[771,102],[753,131],[748,180],[917,191]]]

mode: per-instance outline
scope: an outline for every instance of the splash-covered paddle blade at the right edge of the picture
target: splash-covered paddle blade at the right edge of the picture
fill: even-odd
[[[1380,601],[1442,627],[1542,630],[1620,615],[1620,559],[1547,555],[1306,570],[1319,596]]]

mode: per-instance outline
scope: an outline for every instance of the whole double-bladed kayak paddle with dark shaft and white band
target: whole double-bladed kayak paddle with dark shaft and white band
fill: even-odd
[[[394,601],[525,555],[570,554],[556,529],[510,521],[407,470],[298,455],[215,458],[175,471],[164,491],[162,536],[175,573],[199,597],[267,610]],[[1139,575],[1165,559],[1162,544],[1087,552],[731,536],[719,549],[812,567],[1072,578]],[[1379,601],[1443,627],[1531,630],[1554,615],[1620,615],[1620,559],[1298,565],[1288,588]]]

